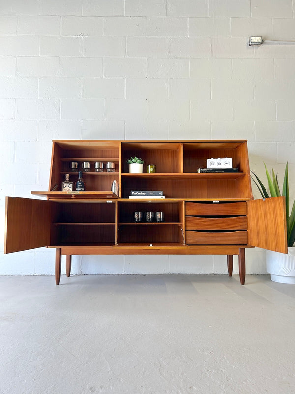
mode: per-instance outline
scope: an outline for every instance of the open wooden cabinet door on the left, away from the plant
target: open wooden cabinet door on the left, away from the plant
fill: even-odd
[[[6,197],[4,253],[50,245],[50,201]]]

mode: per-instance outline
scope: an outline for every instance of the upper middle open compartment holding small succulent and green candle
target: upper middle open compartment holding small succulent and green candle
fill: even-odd
[[[129,172],[127,160],[131,156],[136,156],[144,160],[143,173],[147,173],[148,164],[155,164],[157,173],[182,172],[181,143],[122,143],[123,173]]]

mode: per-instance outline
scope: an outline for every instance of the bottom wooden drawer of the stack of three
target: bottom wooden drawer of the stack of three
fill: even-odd
[[[187,245],[247,245],[247,231],[185,231]]]

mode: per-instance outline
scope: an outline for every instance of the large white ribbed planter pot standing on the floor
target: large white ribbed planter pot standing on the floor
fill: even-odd
[[[288,253],[267,250],[266,269],[274,282],[295,283],[295,247],[288,246]]]

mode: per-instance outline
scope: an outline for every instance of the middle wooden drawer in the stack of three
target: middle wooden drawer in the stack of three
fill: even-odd
[[[231,218],[200,218],[186,216],[186,230],[246,230],[247,216],[234,216]]]

